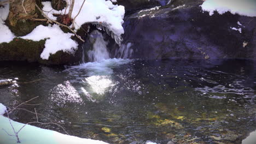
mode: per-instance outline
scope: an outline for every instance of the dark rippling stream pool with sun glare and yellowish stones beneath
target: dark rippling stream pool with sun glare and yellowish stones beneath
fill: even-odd
[[[76,67],[1,63],[0,103],[109,143],[241,143],[256,129],[256,62],[110,59]],[[36,121],[16,110],[18,122]],[[39,121],[49,122],[39,116]],[[65,133],[56,125],[36,125]]]

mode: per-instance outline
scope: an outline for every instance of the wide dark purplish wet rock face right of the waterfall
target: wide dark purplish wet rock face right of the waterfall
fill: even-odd
[[[177,0],[127,15],[123,38],[124,45],[132,44],[131,58],[255,59],[256,19],[231,13],[209,16],[201,4]]]

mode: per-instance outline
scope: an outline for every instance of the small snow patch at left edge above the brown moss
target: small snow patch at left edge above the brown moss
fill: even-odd
[[[11,33],[10,29],[4,25],[4,21],[7,19],[9,15],[9,4],[5,4],[4,8],[0,8],[0,44],[1,43],[9,43],[15,37],[13,33]]]

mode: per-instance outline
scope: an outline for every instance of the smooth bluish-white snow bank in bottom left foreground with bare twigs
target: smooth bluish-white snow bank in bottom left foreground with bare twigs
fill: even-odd
[[[4,110],[4,107],[0,103],[0,111]],[[6,107],[5,107],[6,109]],[[11,121],[11,124],[13,124],[14,129],[16,132],[24,125],[23,123],[18,123]],[[11,128],[11,125],[9,123],[9,119],[7,117],[4,117],[0,115],[0,143],[5,144],[15,144],[17,143],[15,136],[9,136],[7,133],[14,135],[13,129]],[[41,129],[38,127],[34,127],[32,125],[26,125],[20,132],[19,132],[19,139],[21,143],[26,144],[66,144],[66,143],[75,143],[75,144],[107,144],[103,141],[98,140],[90,140],[90,139],[82,139],[80,137],[70,136],[70,135],[64,135],[61,133],[58,133],[57,131],[53,130],[47,130],[47,129]]]

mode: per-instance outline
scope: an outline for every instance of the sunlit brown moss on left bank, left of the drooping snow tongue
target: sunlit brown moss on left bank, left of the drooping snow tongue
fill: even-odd
[[[14,38],[10,43],[0,44],[0,61],[37,62],[44,44],[45,40],[32,41]]]

